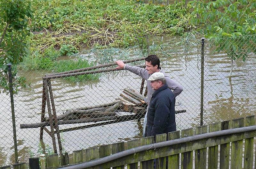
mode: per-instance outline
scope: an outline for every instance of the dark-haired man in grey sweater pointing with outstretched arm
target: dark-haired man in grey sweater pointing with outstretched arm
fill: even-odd
[[[156,55],[148,55],[148,57],[145,58],[145,65],[146,65],[145,69],[137,66],[130,66],[130,65],[124,64],[124,62],[120,60],[116,61],[116,63],[118,65],[117,68],[124,68],[124,70],[129,70],[132,73],[135,73],[136,75],[139,75],[143,79],[147,80],[147,87],[148,87],[147,101],[148,101],[148,107],[149,107],[152,94],[155,92],[155,90],[150,86],[150,81],[148,81],[148,78],[151,76],[152,73],[155,73],[155,72],[164,73],[164,71],[161,70],[159,58]],[[183,91],[183,87],[178,82],[172,80],[166,73],[164,73],[164,77],[168,87],[173,90],[174,96],[175,97],[178,96]],[[147,107],[147,110],[148,110],[148,107]],[[147,124],[147,113],[143,121],[143,136],[145,136],[145,128]]]

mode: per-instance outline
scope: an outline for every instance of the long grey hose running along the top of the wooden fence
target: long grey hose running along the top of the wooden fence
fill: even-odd
[[[181,143],[201,140],[201,139],[205,139],[205,138],[249,132],[249,131],[253,131],[253,130],[256,130],[256,126],[248,126],[248,127],[242,127],[242,128],[236,128],[236,129],[227,129],[227,130],[215,131],[215,132],[205,133],[205,134],[200,134],[200,135],[188,136],[188,137],[179,138],[179,139],[175,139],[175,140],[169,140],[169,141],[164,141],[164,142],[160,142],[160,143],[143,145],[140,147],[135,147],[135,148],[132,148],[129,150],[121,151],[121,152],[112,154],[107,157],[98,158],[98,159],[95,159],[95,160],[92,160],[89,162],[84,162],[84,163],[76,164],[76,165],[69,165],[69,166],[60,167],[60,168],[61,169],[84,169],[87,167],[100,165],[100,164],[115,160],[117,158],[122,158],[122,157],[125,157],[128,155],[134,154],[134,153],[138,153],[141,151],[152,150],[155,148],[161,148],[161,147],[171,146],[171,145],[175,145],[175,144],[181,144]]]

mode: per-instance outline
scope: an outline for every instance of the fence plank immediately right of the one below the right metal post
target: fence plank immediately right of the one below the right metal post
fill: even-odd
[[[209,132],[219,131],[220,123],[213,123],[209,126]],[[209,147],[208,151],[208,169],[218,168],[218,145]]]

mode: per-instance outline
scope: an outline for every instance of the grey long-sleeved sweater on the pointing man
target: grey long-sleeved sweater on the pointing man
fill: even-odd
[[[136,75],[139,75],[143,79],[147,80],[147,87],[148,87],[147,101],[148,101],[148,105],[149,105],[152,94],[155,92],[155,90],[152,89],[152,87],[150,86],[150,81],[148,81],[148,78],[150,77],[151,74],[148,74],[148,70],[146,70],[144,68],[140,68],[137,66],[130,66],[127,64],[124,65],[124,70],[129,70],[132,73],[135,73]],[[160,71],[162,73],[164,73],[163,70],[160,70]],[[174,80],[172,80],[166,73],[164,73],[164,77],[165,77],[168,87],[173,90],[174,96],[175,97],[178,96],[183,91],[183,87],[178,82],[175,82]]]

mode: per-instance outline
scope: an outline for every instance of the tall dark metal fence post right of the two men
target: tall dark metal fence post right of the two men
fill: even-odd
[[[201,46],[201,103],[200,103],[200,125],[203,126],[203,112],[204,112],[204,39],[202,39]]]

